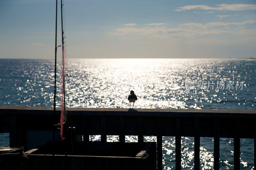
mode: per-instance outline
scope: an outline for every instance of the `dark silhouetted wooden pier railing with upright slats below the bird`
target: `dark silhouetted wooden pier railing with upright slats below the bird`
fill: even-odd
[[[138,135],[157,137],[157,169],[162,169],[162,136],[175,136],[175,169],[181,169],[181,136],[194,137],[194,169],[200,169],[200,137],[214,137],[214,169],[220,169],[220,137],[234,138],[234,169],[240,169],[240,138],[254,139],[256,111],[195,109],[68,108],[68,124],[76,127],[74,136]],[[10,133],[10,146],[28,147],[27,131],[52,130],[59,122],[60,108],[0,106],[0,133]],[[255,159],[254,159],[254,165]]]

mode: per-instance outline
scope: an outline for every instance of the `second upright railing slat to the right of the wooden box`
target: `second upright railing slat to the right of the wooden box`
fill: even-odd
[[[181,170],[181,120],[175,118],[175,169]]]

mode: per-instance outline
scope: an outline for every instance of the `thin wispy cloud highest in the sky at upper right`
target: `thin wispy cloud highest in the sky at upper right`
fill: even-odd
[[[217,10],[217,11],[244,11],[244,10],[256,10],[254,4],[220,4],[218,7],[209,7],[208,5],[188,5],[178,7],[175,11],[184,11],[191,9],[203,9],[203,10]]]

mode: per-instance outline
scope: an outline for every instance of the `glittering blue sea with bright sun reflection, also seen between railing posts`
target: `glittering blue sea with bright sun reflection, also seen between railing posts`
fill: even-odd
[[[60,106],[60,62],[57,69]],[[67,107],[128,108],[130,90],[138,97],[134,108],[255,110],[256,106],[254,59],[68,59],[66,70]],[[53,60],[0,59],[0,105],[51,107],[53,91]],[[154,140],[145,136],[145,141]],[[184,169],[193,169],[193,143],[194,138],[182,137]],[[213,138],[201,138],[200,144],[202,169],[212,169]],[[0,134],[0,145],[9,145],[8,134]],[[240,150],[241,169],[253,169],[253,140],[241,139]],[[163,168],[174,167],[175,137],[163,137]],[[232,138],[220,139],[220,167],[233,169]]]

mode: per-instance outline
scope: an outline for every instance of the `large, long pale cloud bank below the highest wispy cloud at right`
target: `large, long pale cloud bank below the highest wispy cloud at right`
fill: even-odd
[[[247,20],[244,22],[209,22],[201,23],[184,23],[176,28],[168,27],[122,27],[117,28],[114,32],[108,32],[108,35],[128,35],[128,36],[144,36],[144,37],[180,37],[189,38],[194,35],[209,34],[236,34],[236,35],[256,35],[256,29],[247,30],[244,28],[246,24],[253,24],[256,20]]]

